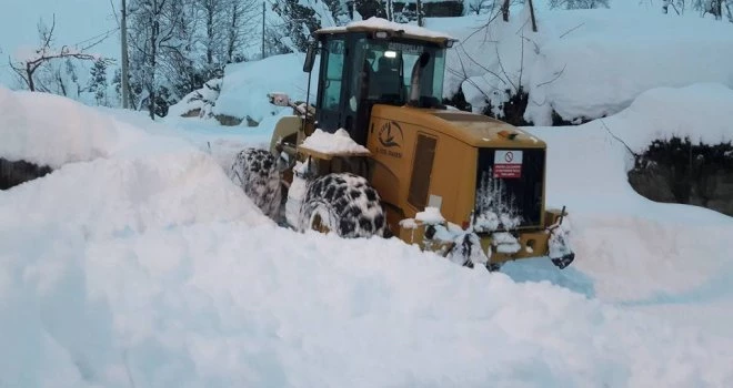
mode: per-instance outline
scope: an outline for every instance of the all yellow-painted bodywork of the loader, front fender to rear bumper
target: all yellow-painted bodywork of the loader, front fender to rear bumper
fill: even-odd
[[[405,229],[400,221],[414,218],[424,206],[409,201],[409,192],[414,170],[418,137],[435,140],[432,169],[429,175],[428,196],[440,197],[440,212],[450,223],[462,225],[469,222],[475,204],[478,150],[492,149],[544,149],[546,145],[520,129],[488,116],[460,111],[439,111],[410,106],[374,105],[368,129],[366,149],[369,154],[330,155],[303,147],[304,137],[300,133],[301,119],[284,118],[275,127],[271,147],[278,140],[298,137],[299,160],[311,156],[319,163],[328,164],[324,171],[340,171],[334,167],[335,156],[369,157],[371,171],[368,178],[379,193],[386,213],[386,219],[394,234],[410,244],[422,248],[445,253],[452,247],[450,242],[425,244],[424,226]],[[291,150],[285,150],[290,152]],[[339,157],[342,160],[343,157]],[[422,169],[430,169],[423,166]],[[420,169],[419,169],[420,170]],[[543,190],[544,190],[543,185]],[[544,198],[544,193],[542,193]],[[429,200],[426,200],[429,201]],[[426,203],[425,203],[426,204]],[[525,227],[518,231],[521,249],[514,254],[503,254],[491,249],[490,263],[502,263],[516,258],[548,255],[550,234],[546,227],[560,217],[559,211],[542,212],[540,227]],[[492,244],[490,235],[480,235],[484,252]]]

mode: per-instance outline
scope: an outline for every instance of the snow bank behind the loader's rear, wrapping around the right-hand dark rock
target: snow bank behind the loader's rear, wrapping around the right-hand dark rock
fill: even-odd
[[[654,203],[636,194],[626,175],[633,167],[626,145],[641,152],[653,139],[672,135],[730,141],[731,103],[733,91],[722,85],[664,88],[604,120],[529,129],[548,142],[548,201],[568,205],[579,257],[573,265],[592,277],[595,295],[662,300],[733,282],[727,237],[733,218]]]

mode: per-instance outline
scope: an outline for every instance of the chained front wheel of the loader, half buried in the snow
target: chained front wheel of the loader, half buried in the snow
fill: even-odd
[[[282,186],[278,159],[265,150],[244,149],[234,157],[229,176],[272,219],[281,211]]]

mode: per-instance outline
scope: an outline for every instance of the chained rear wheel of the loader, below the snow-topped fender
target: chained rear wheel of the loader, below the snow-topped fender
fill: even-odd
[[[334,232],[345,238],[389,236],[379,194],[365,178],[350,173],[313,180],[299,218],[301,231]]]

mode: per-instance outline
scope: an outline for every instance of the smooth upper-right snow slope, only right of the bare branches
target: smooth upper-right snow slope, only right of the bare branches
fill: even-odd
[[[525,116],[539,125],[551,122],[551,109],[565,120],[617,113],[653,88],[697,82],[733,86],[733,68],[721,65],[733,63],[729,23],[613,11],[552,18],[555,34],[582,25],[548,42],[530,68],[535,103]]]

